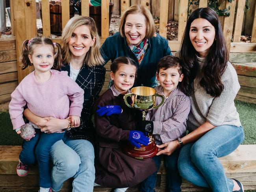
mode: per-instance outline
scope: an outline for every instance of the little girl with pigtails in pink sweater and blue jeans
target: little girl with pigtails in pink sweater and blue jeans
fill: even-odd
[[[22,69],[33,65],[34,71],[26,76],[11,94],[9,113],[13,129],[20,134],[24,120],[22,113],[27,105],[32,113],[40,117],[67,118],[69,127],[80,124],[83,107],[83,89],[74,82],[66,71],[57,71],[62,65],[59,44],[48,38],[26,40],[22,46]],[[52,69],[54,68],[54,69]],[[32,124],[32,123],[30,123]],[[27,164],[37,162],[40,192],[51,191],[50,148],[61,140],[64,133],[40,131],[35,124],[35,136],[24,140],[19,156],[17,174],[28,174]]]

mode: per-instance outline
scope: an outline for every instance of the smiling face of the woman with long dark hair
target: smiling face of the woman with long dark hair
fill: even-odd
[[[208,20],[197,18],[191,23],[189,37],[199,56],[206,57],[215,39],[215,28]]]

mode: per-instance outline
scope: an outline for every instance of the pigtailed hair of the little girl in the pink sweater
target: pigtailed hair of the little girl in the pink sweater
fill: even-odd
[[[38,45],[50,45],[52,46],[53,54],[54,54],[54,64],[52,66],[53,69],[60,69],[62,65],[62,56],[61,56],[61,46],[58,43],[52,42],[49,38],[44,37],[35,37],[30,40],[25,40],[22,44],[20,61],[22,63],[22,70],[27,68],[28,66],[32,66],[30,63],[30,59],[28,55],[33,55],[34,48]]]

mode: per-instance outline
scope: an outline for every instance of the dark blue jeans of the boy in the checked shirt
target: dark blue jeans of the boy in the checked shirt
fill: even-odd
[[[182,183],[182,178],[180,177],[177,167],[179,153],[180,149],[174,151],[174,153],[172,153],[170,156],[159,155],[152,157],[158,170],[161,165],[161,160],[164,157],[165,168],[167,172],[167,190],[170,192],[181,192],[180,185]],[[157,179],[156,174],[158,173],[158,170],[141,183],[141,190],[143,192],[154,191]]]

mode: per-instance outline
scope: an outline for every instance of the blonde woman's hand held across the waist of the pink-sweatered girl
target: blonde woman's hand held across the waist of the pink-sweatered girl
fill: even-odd
[[[46,122],[38,122],[36,125],[41,127],[41,132],[45,133],[61,132],[69,125],[67,119],[58,119],[54,117],[44,117],[44,119]]]

